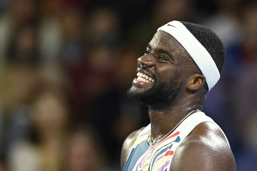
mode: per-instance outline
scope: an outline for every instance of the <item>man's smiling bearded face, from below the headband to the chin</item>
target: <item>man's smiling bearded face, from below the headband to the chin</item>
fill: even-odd
[[[170,34],[158,31],[138,58],[137,70],[128,96],[142,104],[168,103],[174,99],[185,79],[189,55]]]

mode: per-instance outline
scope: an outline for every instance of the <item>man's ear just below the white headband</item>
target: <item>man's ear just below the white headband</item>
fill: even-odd
[[[205,77],[202,74],[193,74],[188,78],[187,88],[190,90],[198,90],[205,83]]]

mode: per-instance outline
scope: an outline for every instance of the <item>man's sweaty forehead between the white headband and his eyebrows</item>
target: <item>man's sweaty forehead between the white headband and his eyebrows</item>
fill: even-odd
[[[153,49],[161,48],[170,51],[172,54],[189,56],[183,46],[173,36],[162,30],[154,34],[149,44]]]

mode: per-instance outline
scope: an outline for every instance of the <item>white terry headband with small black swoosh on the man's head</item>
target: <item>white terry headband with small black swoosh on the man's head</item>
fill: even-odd
[[[220,72],[204,46],[179,21],[171,21],[158,30],[172,35],[184,47],[205,76],[210,91],[220,79]]]

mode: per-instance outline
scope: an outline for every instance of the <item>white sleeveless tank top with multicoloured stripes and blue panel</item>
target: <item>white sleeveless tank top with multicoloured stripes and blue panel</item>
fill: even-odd
[[[150,150],[150,145],[147,143],[147,137],[150,134],[151,129],[151,125],[149,124],[141,131],[141,133],[139,133],[134,142],[123,171],[169,171],[173,154],[179,144],[194,129],[194,127],[202,122],[211,122],[217,125],[203,112],[193,113],[180,123],[168,137],[154,146],[150,159],[147,158]],[[220,127],[218,126],[218,128]],[[222,133],[228,143],[228,139],[223,131]]]

